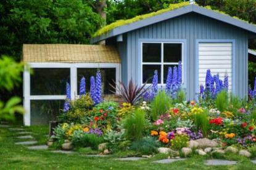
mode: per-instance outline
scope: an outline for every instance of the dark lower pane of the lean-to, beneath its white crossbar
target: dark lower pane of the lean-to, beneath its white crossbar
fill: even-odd
[[[48,125],[49,121],[57,120],[63,107],[64,100],[31,100],[31,125]]]

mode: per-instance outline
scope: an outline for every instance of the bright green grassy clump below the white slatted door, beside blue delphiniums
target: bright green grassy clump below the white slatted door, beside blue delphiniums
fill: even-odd
[[[226,90],[220,91],[215,99],[215,105],[218,110],[224,112],[228,109],[229,101],[228,101],[228,92]]]

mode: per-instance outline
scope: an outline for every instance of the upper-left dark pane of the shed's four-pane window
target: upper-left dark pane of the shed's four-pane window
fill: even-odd
[[[143,58],[143,62],[160,63],[161,62],[161,44],[160,43],[143,43],[142,58]]]

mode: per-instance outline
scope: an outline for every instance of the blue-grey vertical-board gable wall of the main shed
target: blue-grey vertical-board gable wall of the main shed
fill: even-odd
[[[154,25],[130,31],[123,36],[123,42],[117,42],[118,50],[122,58],[122,81],[127,83],[133,78],[139,83],[139,39],[184,39],[186,41],[186,93],[188,99],[194,99],[198,90],[196,75],[196,42],[203,40],[234,40],[233,60],[235,61],[235,75],[233,75],[235,95],[244,97],[248,90],[248,35],[249,32],[236,26],[228,25],[209,17],[204,17],[196,13],[181,15],[161,21]]]

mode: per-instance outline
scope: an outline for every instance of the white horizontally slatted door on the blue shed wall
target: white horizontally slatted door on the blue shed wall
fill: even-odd
[[[224,81],[228,74],[229,91],[232,87],[232,43],[199,43],[199,87],[205,87],[205,75],[210,69],[212,75],[219,74]]]

